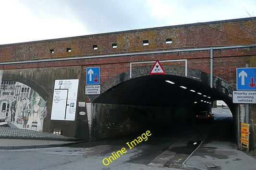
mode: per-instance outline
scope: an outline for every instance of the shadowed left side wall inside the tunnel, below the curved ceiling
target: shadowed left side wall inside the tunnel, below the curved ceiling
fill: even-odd
[[[171,130],[173,124],[189,122],[189,109],[164,106],[92,104],[90,140]],[[174,130],[174,129],[173,129]]]

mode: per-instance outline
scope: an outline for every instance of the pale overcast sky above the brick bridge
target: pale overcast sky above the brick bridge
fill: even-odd
[[[256,0],[0,0],[0,44],[256,16]]]

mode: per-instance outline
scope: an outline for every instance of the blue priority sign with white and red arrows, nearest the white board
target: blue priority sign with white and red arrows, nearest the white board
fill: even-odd
[[[100,69],[99,67],[86,68],[86,85],[99,85]]]

